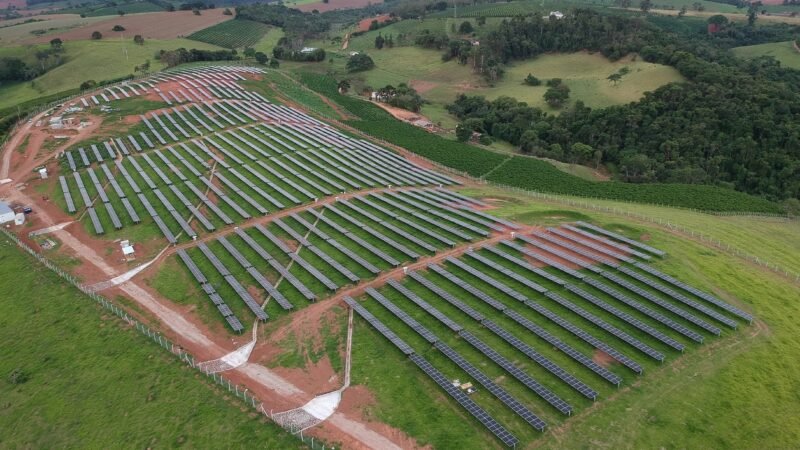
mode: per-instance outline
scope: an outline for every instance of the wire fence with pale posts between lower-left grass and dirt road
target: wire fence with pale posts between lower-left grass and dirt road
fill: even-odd
[[[95,303],[97,303],[98,305],[103,307],[105,310],[113,313],[114,315],[116,315],[120,319],[122,319],[125,322],[127,322],[129,325],[133,326],[142,335],[148,337],[154,343],[158,344],[159,347],[163,348],[164,350],[166,350],[169,353],[171,353],[173,356],[177,357],[181,362],[183,362],[187,366],[191,367],[192,369],[197,370],[198,372],[200,372],[203,375],[205,375],[207,378],[213,380],[214,383],[217,384],[218,386],[227,389],[228,392],[230,392],[231,394],[235,395],[236,398],[238,398],[242,403],[244,403],[248,407],[253,408],[255,411],[262,413],[264,415],[264,417],[266,417],[267,419],[269,419],[270,421],[272,421],[276,425],[281,426],[277,422],[274,422],[272,420],[270,414],[267,413],[267,407],[265,407],[264,402],[259,400],[254,395],[249,394],[248,390],[246,388],[243,388],[242,386],[231,382],[229,379],[225,378],[224,376],[222,376],[222,375],[220,375],[218,373],[208,373],[206,371],[203,371],[201,369],[201,367],[200,367],[199,361],[197,361],[192,354],[190,354],[189,352],[184,350],[180,345],[176,345],[174,342],[172,342],[169,339],[167,339],[166,337],[164,337],[158,331],[153,330],[152,328],[150,328],[147,325],[141,323],[140,321],[138,321],[134,317],[130,316],[123,308],[119,307],[118,305],[116,305],[111,300],[109,300],[109,299],[107,299],[107,298],[103,297],[102,295],[99,295],[99,294],[97,294],[95,292],[92,292],[92,290],[90,289],[89,286],[82,284],[73,275],[71,275],[67,271],[61,269],[55,263],[53,263],[52,261],[47,259],[45,256],[41,255],[39,252],[37,252],[36,250],[32,249],[26,243],[22,242],[13,233],[11,233],[8,230],[3,229],[3,228],[0,228],[0,231],[2,231],[2,233],[8,239],[13,241],[17,246],[19,246],[20,248],[25,250],[28,254],[30,254],[31,256],[36,258],[36,260],[39,261],[42,265],[44,265],[48,269],[50,269],[53,272],[55,272],[61,278],[67,280],[70,284],[72,284],[73,286],[78,288],[81,292],[83,292],[85,295],[87,295],[90,299],[92,299]],[[322,441],[320,441],[318,439],[315,439],[312,436],[304,435],[301,430],[292,429],[290,427],[289,428],[282,427],[282,428],[284,430],[288,431],[289,433],[291,433],[297,439],[299,439],[303,444],[309,446],[310,448],[312,448],[314,450],[317,450],[317,449],[326,450],[326,449],[334,449],[335,448],[333,446],[326,445],[325,442],[322,442]]]

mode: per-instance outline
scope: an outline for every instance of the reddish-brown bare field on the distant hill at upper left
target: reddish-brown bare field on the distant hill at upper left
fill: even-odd
[[[120,33],[112,32],[114,25],[125,27],[124,35],[133,38],[141,34],[145,39],[175,39],[188,36],[195,31],[208,28],[220,22],[230,20],[233,16],[222,14],[223,9],[208,9],[195,16],[191,11],[154,12],[129,14],[124,17],[113,16],[108,20],[95,22],[62,33],[48,34],[31,39],[29,42],[45,43],[59,37],[65,41],[88,40],[93,31],[99,31],[107,37],[118,37]]]

